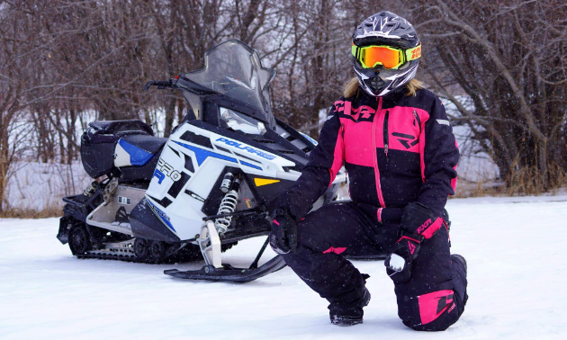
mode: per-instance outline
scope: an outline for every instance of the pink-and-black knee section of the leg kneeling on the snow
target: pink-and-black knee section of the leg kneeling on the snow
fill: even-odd
[[[464,303],[453,290],[433,291],[418,297],[398,298],[398,315],[403,324],[418,331],[443,331],[455,324]]]

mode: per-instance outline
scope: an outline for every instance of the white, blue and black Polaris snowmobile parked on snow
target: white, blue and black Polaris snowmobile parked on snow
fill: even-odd
[[[282,269],[276,255],[248,268],[221,261],[239,240],[266,236],[267,206],[299,178],[316,141],[275,118],[275,70],[229,40],[204,55],[204,68],[166,81],[189,104],[168,139],[143,121],[94,121],[81,137],[87,174],[103,178],[63,199],[58,239],[79,258],[175,263],[202,256],[201,270],[166,270],[186,279],[248,282]],[[314,205],[336,200],[339,173]]]

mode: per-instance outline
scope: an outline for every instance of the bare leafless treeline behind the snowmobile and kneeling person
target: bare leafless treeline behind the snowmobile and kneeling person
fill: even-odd
[[[276,116],[316,138],[354,76],[352,31],[383,10],[414,24],[419,79],[449,103],[467,152],[497,167],[471,183],[512,194],[567,183],[564,0],[0,0],[0,213],[26,164],[76,167],[89,121],[141,119],[167,136],[187,104],[142,85],[201,68],[229,39],[277,70]]]

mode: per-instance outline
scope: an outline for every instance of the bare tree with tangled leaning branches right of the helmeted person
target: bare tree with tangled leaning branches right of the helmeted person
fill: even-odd
[[[567,166],[567,4],[427,0],[414,16],[433,52],[429,84],[455,103],[454,121],[473,130],[504,179],[536,168],[544,190]]]

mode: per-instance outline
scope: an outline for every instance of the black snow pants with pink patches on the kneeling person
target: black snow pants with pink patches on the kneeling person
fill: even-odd
[[[356,301],[364,292],[365,277],[345,256],[390,254],[399,238],[399,222],[398,217],[380,223],[356,202],[329,204],[298,223],[298,247],[283,257],[322,298]],[[422,243],[410,281],[394,282],[398,316],[415,330],[445,330],[463,314],[466,284],[463,264],[451,261],[448,230],[441,228]]]

